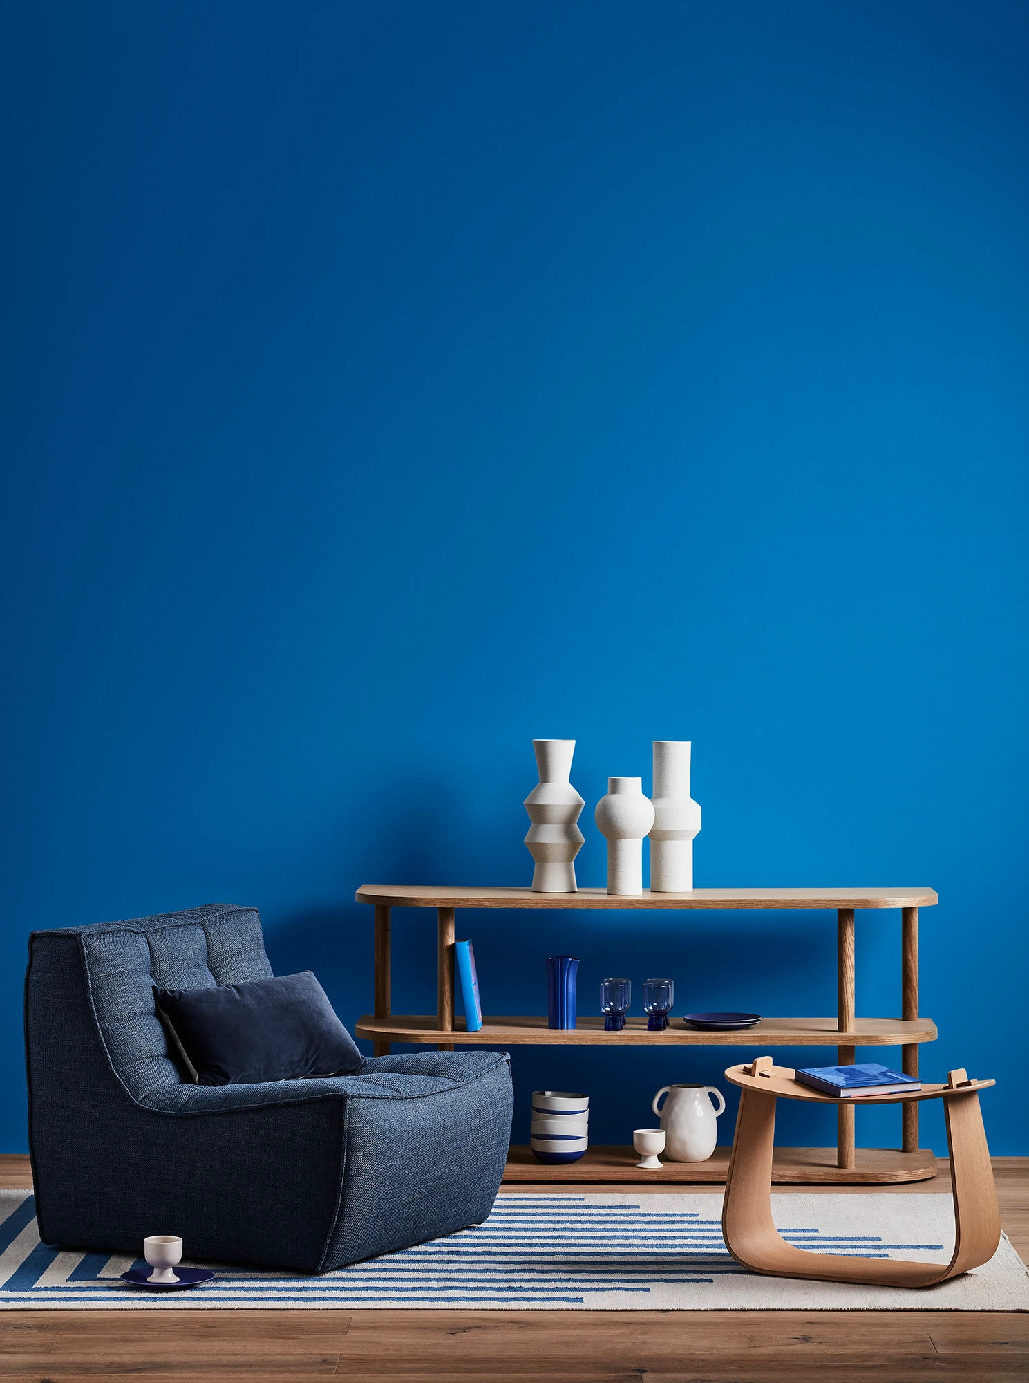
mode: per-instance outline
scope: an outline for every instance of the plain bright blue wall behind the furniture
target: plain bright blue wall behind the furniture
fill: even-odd
[[[607,774],[649,791],[660,737],[693,740],[698,885],[935,887],[923,1069],[1000,1077],[993,1149],[1029,1153],[1025,6],[17,0],[3,29],[1,1147],[30,929],[253,903],[353,1022],[355,887],[527,882],[530,740],[570,736],[582,882]],[[494,1012],[541,1011],[556,950],[585,1011],[611,972],[834,1010],[831,913],[462,934]],[[859,914],[859,1012],[899,1011],[898,939]],[[427,1011],[433,914],[396,953]],[[516,1133],[546,1083],[628,1141],[729,1059],[516,1051]]]

